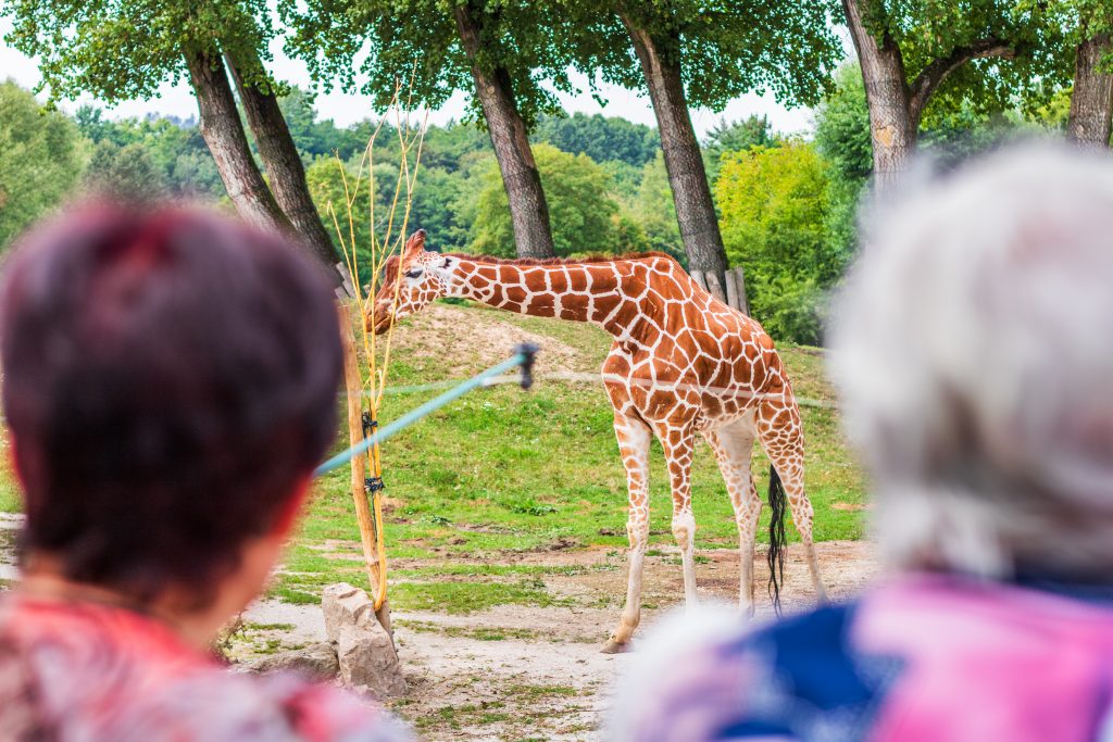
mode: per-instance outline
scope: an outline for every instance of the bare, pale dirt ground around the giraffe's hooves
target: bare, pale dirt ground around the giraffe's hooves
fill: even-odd
[[[826,542],[818,550],[835,600],[856,595],[877,573],[865,542]],[[759,594],[768,577],[762,557],[759,552]],[[395,639],[411,687],[408,696],[394,704],[395,711],[427,740],[600,739],[598,726],[610,705],[613,684],[633,656],[599,651],[621,610],[623,558],[613,550],[598,548],[529,554],[505,562],[594,567],[571,576],[545,576],[545,588],[568,598],[569,605],[501,605],[470,615],[395,611]],[[701,598],[737,601],[738,552],[701,551],[697,561]],[[641,635],[676,607],[682,595],[676,562],[667,550],[647,558]],[[614,568],[598,568],[608,565]],[[789,550],[785,580],[786,612],[812,604],[798,545]],[[771,615],[769,601],[760,601],[758,620]],[[284,625],[284,645],[324,637],[317,606],[265,602],[252,606],[244,617],[256,624]],[[636,640],[634,653],[637,645]]]

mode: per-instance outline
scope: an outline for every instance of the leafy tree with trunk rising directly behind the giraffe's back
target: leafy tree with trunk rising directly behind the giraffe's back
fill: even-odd
[[[721,274],[727,255],[689,106],[721,109],[743,92],[767,90],[789,103],[817,102],[840,56],[827,3],[562,4],[574,19],[573,49],[589,78],[598,71],[609,82],[649,91],[689,264]]]

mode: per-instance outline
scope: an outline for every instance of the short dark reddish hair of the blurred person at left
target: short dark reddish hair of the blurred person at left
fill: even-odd
[[[100,205],[35,230],[4,267],[0,344],[23,550],[136,600],[207,600],[335,436],[323,268],[215,214]]]

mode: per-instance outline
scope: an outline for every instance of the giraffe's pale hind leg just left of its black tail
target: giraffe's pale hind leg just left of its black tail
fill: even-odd
[[[761,516],[761,497],[758,496],[750,474],[756,433],[754,417],[750,415],[721,431],[703,434],[719,463],[730,504],[735,508],[740,560],[738,605],[747,617],[754,616],[754,548],[758,518]]]

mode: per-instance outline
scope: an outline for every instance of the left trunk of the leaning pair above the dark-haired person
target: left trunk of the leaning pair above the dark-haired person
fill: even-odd
[[[201,137],[239,216],[264,228],[292,231],[247,146],[224,60],[204,51],[187,51],[186,66],[197,96]]]

